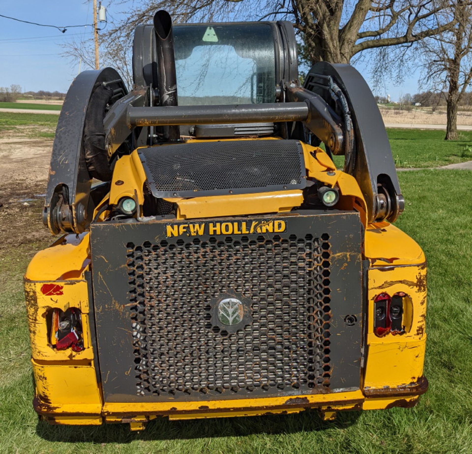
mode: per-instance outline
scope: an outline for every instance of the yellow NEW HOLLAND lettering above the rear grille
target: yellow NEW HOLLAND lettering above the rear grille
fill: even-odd
[[[246,235],[252,233],[281,233],[287,230],[287,222],[282,220],[195,222],[189,224],[169,224],[166,235]]]

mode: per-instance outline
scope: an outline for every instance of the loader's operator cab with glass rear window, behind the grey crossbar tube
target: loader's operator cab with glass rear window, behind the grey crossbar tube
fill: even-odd
[[[289,22],[175,24],[173,35],[178,105],[282,101],[282,81],[298,77],[295,33]],[[152,44],[147,47],[143,42]],[[134,43],[136,85],[157,87],[155,49],[152,25],[138,26]],[[138,62],[142,62],[139,67]],[[181,137],[193,138],[277,133],[278,125],[273,122],[180,127]]]

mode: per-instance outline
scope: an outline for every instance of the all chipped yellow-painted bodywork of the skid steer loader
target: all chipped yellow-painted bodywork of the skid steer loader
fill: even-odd
[[[191,142],[191,141],[190,141]],[[34,406],[56,424],[101,424],[128,422],[139,430],[157,416],[170,419],[248,416],[296,413],[319,409],[329,419],[341,410],[371,410],[415,405],[426,391],[423,359],[426,332],[426,260],[421,248],[408,235],[388,222],[366,224],[366,206],[356,180],[336,170],[320,148],[302,144],[307,177],[339,188],[340,210],[359,213],[364,226],[362,259],[367,264],[365,317],[362,325],[361,387],[355,391],[301,394],[290,397],[254,397],[208,401],[107,402],[104,401],[97,361],[93,301],[86,273],[91,261],[90,234],[65,235],[38,252],[25,273],[25,294],[36,382]],[[123,197],[143,203],[146,176],[137,151],[121,157],[115,165],[109,195],[96,210],[96,222]],[[168,200],[177,205],[177,230],[169,234],[198,237],[193,225],[219,219],[219,227],[236,233],[241,224],[234,218],[252,214],[287,214],[303,203],[301,190],[243,195],[218,195]],[[293,214],[293,216],[296,216]],[[182,223],[181,221],[188,221]],[[276,225],[276,224],[274,224]],[[178,230],[180,228],[180,231]],[[246,226],[243,228],[250,228]],[[277,227],[267,227],[277,228]],[[349,261],[349,257],[343,257]],[[176,283],[178,285],[178,282]],[[401,294],[407,299],[405,332],[383,337],[374,331],[375,300],[381,293]],[[48,311],[78,308],[82,314],[84,349],[57,350],[51,345]],[[357,314],[362,317],[362,314]],[[106,380],[106,378],[105,378]],[[104,381],[105,381],[104,380]]]

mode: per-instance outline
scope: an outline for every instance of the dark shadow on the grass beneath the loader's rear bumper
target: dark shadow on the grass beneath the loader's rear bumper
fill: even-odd
[[[291,415],[268,415],[233,418],[213,418],[189,421],[169,421],[157,418],[148,422],[145,430],[131,432],[128,424],[101,426],[53,426],[38,421],[36,434],[48,441],[120,443],[133,440],[173,440],[217,437],[245,437],[259,434],[287,434],[327,429],[343,429],[353,425],[361,412],[340,412],[334,422],[323,421],[314,411]]]

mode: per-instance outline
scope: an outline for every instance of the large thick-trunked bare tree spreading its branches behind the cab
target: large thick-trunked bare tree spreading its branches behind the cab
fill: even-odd
[[[110,24],[108,32],[101,35],[102,59],[127,70],[136,25],[152,23],[158,9],[167,9],[176,22],[289,20],[303,41],[305,60],[349,63],[362,51],[409,47],[450,29],[455,18],[444,15],[444,20],[438,22],[438,13],[452,1],[455,0],[116,0],[124,9],[124,19]],[[69,55],[79,56],[77,49],[69,49]],[[382,63],[378,72],[382,73],[386,57],[379,61]]]

